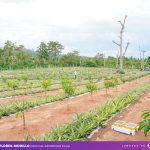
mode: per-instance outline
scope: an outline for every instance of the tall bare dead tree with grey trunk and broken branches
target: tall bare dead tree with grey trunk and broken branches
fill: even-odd
[[[124,20],[123,22],[122,21],[118,21],[121,25],[121,30],[120,30],[120,35],[119,35],[119,38],[120,38],[120,42],[117,43],[115,41],[112,41],[114,44],[116,44],[117,46],[119,46],[119,72],[121,73],[122,70],[123,70],[123,57],[125,56],[126,54],[126,51],[129,47],[129,42],[127,42],[126,44],[126,47],[125,49],[123,50],[123,32],[124,32],[124,29],[125,29],[125,23],[126,23],[126,19],[127,19],[127,15],[124,17]]]

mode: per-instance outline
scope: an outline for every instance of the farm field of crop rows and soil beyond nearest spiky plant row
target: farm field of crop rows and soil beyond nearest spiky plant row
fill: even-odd
[[[75,70],[78,72],[76,80],[73,74]],[[76,87],[76,92],[72,95],[74,97],[69,100],[69,96],[66,96],[62,89],[61,76],[71,78],[73,86]],[[51,85],[45,93],[42,82],[47,79],[51,80]],[[91,79],[98,87],[92,95],[86,88]],[[106,93],[105,81],[114,79],[117,79],[117,84],[110,87]],[[19,86],[15,90],[8,87],[8,80],[19,82]],[[1,71],[0,140],[24,140],[26,135],[36,137],[46,134],[57,125],[72,122],[76,114],[87,113],[98,105],[111,102],[119,94],[149,82],[150,73],[136,69],[125,70],[125,74],[121,75],[110,68],[74,67]],[[22,118],[16,117],[22,109],[25,110],[25,129]]]

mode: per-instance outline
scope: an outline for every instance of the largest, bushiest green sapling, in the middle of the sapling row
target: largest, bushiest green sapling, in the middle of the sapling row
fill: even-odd
[[[61,78],[62,89],[64,90],[67,97],[71,97],[75,94],[75,87],[69,78]],[[69,99],[67,99],[67,111],[69,111]]]

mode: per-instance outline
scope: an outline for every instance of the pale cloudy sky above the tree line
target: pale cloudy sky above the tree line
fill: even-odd
[[[116,56],[120,24],[127,15],[126,56],[150,55],[150,0],[0,0],[0,46],[7,40],[36,50],[40,42],[59,41],[63,53],[98,52]]]

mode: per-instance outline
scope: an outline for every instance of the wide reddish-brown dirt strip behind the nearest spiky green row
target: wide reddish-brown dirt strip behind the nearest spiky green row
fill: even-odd
[[[99,104],[110,101],[113,96],[128,91],[142,83],[148,82],[150,76],[138,79],[138,81],[126,82],[116,88],[109,89],[109,97],[105,90],[100,90],[93,95],[78,96],[69,100],[69,112],[67,111],[67,99],[53,104],[30,109],[25,113],[26,130],[23,130],[22,119],[9,116],[0,119],[0,140],[22,140],[25,134],[40,135],[46,133],[57,124],[62,125],[72,121],[76,113],[87,112]],[[86,104],[86,105],[85,105]]]

